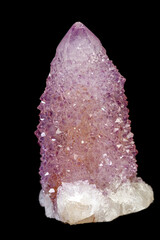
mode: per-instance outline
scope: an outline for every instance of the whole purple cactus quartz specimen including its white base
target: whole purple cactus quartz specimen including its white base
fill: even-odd
[[[75,23],[57,47],[38,107],[39,201],[47,217],[111,221],[153,201],[137,177],[124,83],[99,39]]]

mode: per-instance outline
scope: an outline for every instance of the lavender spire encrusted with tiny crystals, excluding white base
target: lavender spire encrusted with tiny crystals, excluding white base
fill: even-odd
[[[58,220],[63,183],[87,182],[107,197],[141,181],[124,83],[99,39],[75,23],[57,47],[38,107],[42,191]],[[91,216],[88,222],[96,221]]]

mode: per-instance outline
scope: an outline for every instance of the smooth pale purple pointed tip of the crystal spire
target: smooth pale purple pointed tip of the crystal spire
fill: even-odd
[[[100,40],[81,22],[69,29],[57,47],[56,55],[62,60],[85,61],[106,53]]]

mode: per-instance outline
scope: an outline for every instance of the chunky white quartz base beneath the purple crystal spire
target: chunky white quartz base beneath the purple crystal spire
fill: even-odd
[[[69,224],[112,221],[121,215],[143,210],[153,202],[152,188],[141,178],[127,181],[115,189],[107,190],[108,194],[103,195],[88,181],[62,183],[58,188],[56,212],[49,195],[42,190],[39,201],[45,207],[47,217]]]

